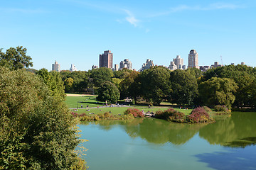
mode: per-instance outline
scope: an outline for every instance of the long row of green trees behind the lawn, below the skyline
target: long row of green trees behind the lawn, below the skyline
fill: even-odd
[[[256,69],[246,65],[217,67],[204,73],[196,68],[170,71],[165,67],[151,67],[144,72],[129,69],[112,72],[99,68],[60,74],[65,92],[97,94],[108,81],[109,87],[117,87],[120,99],[132,98],[134,102],[159,105],[167,101],[180,106],[225,105],[228,108],[256,106]]]

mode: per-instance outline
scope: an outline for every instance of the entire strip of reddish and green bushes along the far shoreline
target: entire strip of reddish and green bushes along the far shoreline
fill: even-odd
[[[215,123],[213,115],[228,115],[231,111],[226,106],[215,106],[213,111],[207,106],[193,109],[189,115],[176,111],[174,108],[169,108],[166,111],[156,111],[154,118],[163,119],[176,123]],[[80,121],[95,121],[95,120],[129,120],[134,118],[144,118],[144,113],[137,108],[127,108],[124,115],[113,115],[110,112],[103,114],[87,115],[86,113],[71,114]]]

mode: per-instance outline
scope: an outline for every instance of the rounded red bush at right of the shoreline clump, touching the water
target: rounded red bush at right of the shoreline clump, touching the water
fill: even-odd
[[[206,123],[211,120],[206,110],[201,107],[193,109],[191,115],[186,116],[187,123]]]

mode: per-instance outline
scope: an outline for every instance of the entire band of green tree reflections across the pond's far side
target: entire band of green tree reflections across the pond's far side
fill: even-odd
[[[119,125],[130,137],[141,137],[147,142],[160,145],[167,142],[183,145],[197,132],[211,145],[225,147],[256,145],[256,113],[233,113],[232,116],[218,116],[216,119],[216,123],[198,125],[170,123],[151,118],[100,120],[94,123],[102,130],[111,130],[114,125]]]

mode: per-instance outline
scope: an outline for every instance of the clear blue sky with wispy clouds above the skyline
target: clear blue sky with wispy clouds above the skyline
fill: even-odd
[[[105,50],[113,67],[128,59],[137,70],[176,55],[187,65],[192,49],[199,65],[256,66],[255,0],[0,0],[0,13],[0,48],[26,47],[33,69],[87,71]]]

